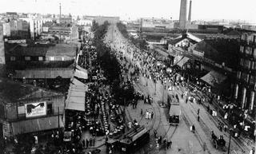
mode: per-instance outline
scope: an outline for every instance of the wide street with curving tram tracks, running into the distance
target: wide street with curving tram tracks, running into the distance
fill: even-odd
[[[140,69],[143,68],[141,61],[134,58],[134,51],[138,50],[134,45],[130,45],[126,38],[122,37],[122,34],[118,31],[118,28],[114,25],[109,26],[109,30],[106,34],[107,43],[116,51],[121,51],[123,55],[132,63],[133,65],[138,66]],[[128,52],[127,52],[128,51]],[[135,61],[134,61],[135,60]],[[137,61],[136,61],[137,60]],[[129,69],[129,68],[127,68]],[[134,69],[130,68],[129,72],[133,72]],[[128,78],[130,73],[127,73]],[[125,77],[126,78],[126,77]],[[166,87],[172,85],[173,83],[167,83]],[[226,146],[229,141],[229,132],[221,132],[218,129],[218,118],[211,116],[207,112],[206,108],[197,103],[185,102],[185,98],[182,98],[182,93],[188,91],[186,86],[174,86],[174,90],[168,91],[167,88],[164,88],[164,85],[161,81],[157,81],[156,84],[153,80],[150,80],[148,77],[144,77],[142,73],[139,73],[139,80],[134,83],[134,88],[136,91],[144,93],[146,96],[150,95],[153,98],[153,103],[151,105],[143,105],[143,102],[138,103],[138,109],[132,109],[128,107],[126,109],[126,115],[130,116],[130,120],[137,119],[141,117],[139,124],[145,124],[147,128],[150,128],[150,132],[157,130],[158,135],[166,137],[167,140],[172,141],[172,146],[170,149],[166,150],[166,153],[224,153],[222,149],[214,148],[211,142],[211,131],[217,136],[223,135],[224,140],[226,140]],[[160,107],[162,101],[166,103],[168,95],[178,94],[179,102],[182,107],[182,118],[180,124],[177,128],[172,126],[168,122],[168,109]],[[195,93],[190,93],[191,96],[196,96]],[[140,115],[140,110],[151,109],[154,112],[153,120],[146,120],[143,116]],[[200,109],[200,120],[197,120],[197,111]],[[167,113],[166,113],[167,112]],[[137,113],[137,114],[136,114]],[[190,126],[195,126],[196,131],[190,132]],[[152,138],[152,137],[151,137]],[[150,142],[152,146],[148,146],[146,149],[143,148],[142,151],[149,151],[154,153],[154,141]],[[204,144],[206,146],[204,146]],[[245,146],[246,143],[239,143],[236,139],[232,138],[230,144],[230,153],[242,154],[249,153],[250,146]],[[161,153],[165,153],[165,150],[160,150]],[[143,153],[143,152],[138,152]]]

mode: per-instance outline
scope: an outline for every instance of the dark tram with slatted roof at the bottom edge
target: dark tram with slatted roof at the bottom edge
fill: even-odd
[[[118,148],[122,153],[134,153],[150,140],[150,130],[144,126],[135,126],[126,132],[118,142]]]

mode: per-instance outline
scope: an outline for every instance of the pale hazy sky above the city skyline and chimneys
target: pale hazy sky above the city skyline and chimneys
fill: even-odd
[[[190,0],[188,0],[189,2]],[[155,17],[178,19],[180,0],[0,0],[0,12]],[[256,23],[256,0],[193,0],[192,20],[237,19]]]

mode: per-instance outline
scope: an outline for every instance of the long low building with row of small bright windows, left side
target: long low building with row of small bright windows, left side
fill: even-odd
[[[67,68],[74,64],[78,45],[17,45],[6,43],[6,69]]]

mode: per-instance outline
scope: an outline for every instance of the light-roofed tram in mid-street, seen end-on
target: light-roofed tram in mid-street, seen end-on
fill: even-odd
[[[181,107],[178,102],[170,103],[169,123],[174,125],[179,124],[181,113],[182,113]]]

